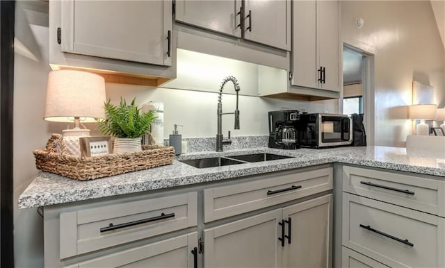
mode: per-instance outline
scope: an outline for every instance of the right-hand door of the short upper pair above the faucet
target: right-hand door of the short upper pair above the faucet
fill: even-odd
[[[244,38],[291,50],[291,1],[246,0]]]

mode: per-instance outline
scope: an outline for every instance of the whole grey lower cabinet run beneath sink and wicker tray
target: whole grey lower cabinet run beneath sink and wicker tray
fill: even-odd
[[[44,266],[332,266],[332,167],[210,186],[47,206]]]

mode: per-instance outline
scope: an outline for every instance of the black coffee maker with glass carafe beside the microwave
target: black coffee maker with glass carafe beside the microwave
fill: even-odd
[[[269,148],[300,149],[297,124],[300,121],[298,110],[268,112]]]

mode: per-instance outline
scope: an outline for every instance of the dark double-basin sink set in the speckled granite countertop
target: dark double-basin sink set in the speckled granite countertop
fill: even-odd
[[[222,167],[228,165],[238,165],[251,162],[263,162],[270,160],[280,160],[285,158],[293,158],[293,156],[280,156],[273,153],[254,153],[241,156],[221,156],[216,158],[199,158],[192,160],[180,160],[187,165],[202,169],[205,167]]]

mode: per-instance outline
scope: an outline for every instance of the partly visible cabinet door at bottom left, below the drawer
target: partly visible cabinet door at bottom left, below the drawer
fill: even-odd
[[[72,267],[194,267],[192,251],[195,247],[196,232],[81,262]]]

